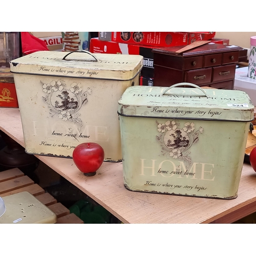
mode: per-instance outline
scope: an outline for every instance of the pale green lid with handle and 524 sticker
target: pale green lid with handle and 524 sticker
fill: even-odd
[[[169,88],[130,87],[118,101],[122,116],[251,121],[253,113],[254,105],[243,91],[202,89],[185,82]]]

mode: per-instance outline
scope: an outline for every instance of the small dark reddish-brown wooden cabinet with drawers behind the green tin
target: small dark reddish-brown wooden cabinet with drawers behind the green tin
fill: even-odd
[[[179,82],[218,89],[233,89],[236,63],[243,48],[206,44],[183,53],[182,46],[153,49],[154,86],[170,87]]]

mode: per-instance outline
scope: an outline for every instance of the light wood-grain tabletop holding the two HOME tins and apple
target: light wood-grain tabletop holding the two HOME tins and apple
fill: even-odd
[[[0,130],[24,146],[19,109],[0,108]],[[93,177],[73,159],[36,156],[123,223],[232,223],[256,211],[256,173],[244,163],[238,198],[232,200],[149,194],[123,186],[122,163],[104,162]]]

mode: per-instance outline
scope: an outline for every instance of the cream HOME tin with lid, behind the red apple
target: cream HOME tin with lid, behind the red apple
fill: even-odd
[[[39,51],[10,63],[29,154],[72,158],[96,142],[121,161],[118,99],[139,84],[140,55]]]

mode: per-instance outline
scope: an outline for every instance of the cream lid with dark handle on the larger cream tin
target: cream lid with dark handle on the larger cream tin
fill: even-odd
[[[37,51],[10,62],[10,70],[16,74],[107,80],[132,80],[142,66],[141,55],[92,54],[84,50]]]

